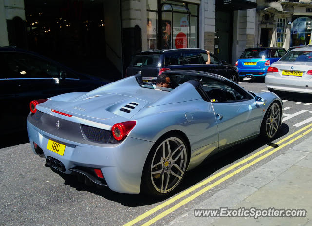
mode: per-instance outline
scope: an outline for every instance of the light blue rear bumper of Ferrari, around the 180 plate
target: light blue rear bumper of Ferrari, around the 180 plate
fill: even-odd
[[[28,120],[27,130],[33,152],[38,154],[35,142],[43,150],[45,158],[50,156],[64,164],[64,173],[71,174],[70,169],[77,167],[98,168],[111,190],[132,194],[140,192],[143,167],[154,142],[127,137],[119,144],[82,144],[42,131]],[[46,148],[49,139],[66,145],[63,156]]]

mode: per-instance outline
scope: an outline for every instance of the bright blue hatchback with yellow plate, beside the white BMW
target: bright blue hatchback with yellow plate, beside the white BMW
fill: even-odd
[[[271,63],[278,61],[286,50],[281,47],[261,47],[245,49],[235,66],[239,70],[239,79],[264,78]]]

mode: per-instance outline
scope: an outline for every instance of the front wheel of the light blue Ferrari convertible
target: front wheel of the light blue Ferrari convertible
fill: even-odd
[[[281,106],[273,102],[265,113],[261,123],[261,136],[266,140],[273,140],[281,124]]]

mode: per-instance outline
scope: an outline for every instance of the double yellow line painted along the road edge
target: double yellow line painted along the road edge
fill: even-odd
[[[285,144],[282,144],[282,145],[278,146],[277,148],[275,148],[274,150],[272,150],[272,151],[266,153],[265,155],[262,155],[261,157],[255,159],[254,161],[250,162],[249,164],[246,164],[246,165],[244,165],[244,166],[242,166],[242,167],[236,169],[236,170],[233,171],[232,173],[230,173],[230,174],[228,174],[228,175],[222,177],[221,179],[217,180],[217,181],[214,182],[213,184],[208,185],[208,186],[202,188],[201,190],[195,192],[193,195],[187,197],[186,199],[183,199],[183,200],[180,201],[178,204],[176,204],[176,205],[172,206],[171,208],[169,208],[169,209],[167,209],[167,210],[161,212],[161,213],[158,214],[156,217],[154,217],[154,218],[152,218],[151,220],[149,220],[148,222],[144,223],[142,226],[149,226],[149,225],[155,223],[155,222],[158,221],[159,219],[161,219],[161,218],[163,218],[164,216],[168,215],[169,213],[175,211],[177,208],[181,207],[182,205],[187,204],[188,202],[192,201],[193,199],[195,199],[195,198],[198,197],[199,195],[201,195],[201,194],[207,192],[208,190],[210,190],[211,188],[215,187],[216,185],[219,185],[220,183],[222,183],[222,182],[226,181],[227,179],[233,177],[234,175],[236,175],[237,173],[243,171],[244,169],[246,169],[246,168],[248,168],[248,167],[250,167],[250,166],[256,164],[257,162],[259,162],[259,161],[265,159],[266,157],[272,155],[273,153],[275,153],[276,151],[282,149],[283,147],[285,147],[285,146],[287,146],[287,145],[289,145],[289,144],[292,144],[294,141],[296,141],[296,140],[300,139],[301,137],[305,136],[306,134],[310,133],[310,132],[312,131],[312,128],[309,129],[309,127],[311,127],[311,126],[312,126],[312,123],[309,124],[309,125],[307,125],[307,126],[305,126],[305,127],[303,127],[303,128],[301,128],[301,129],[299,129],[299,130],[297,130],[296,132],[292,133],[291,135],[289,135],[289,136],[287,136],[287,137],[281,139],[281,140],[278,141],[276,144],[282,144],[283,142],[289,140],[290,138],[292,138],[293,136],[297,135],[298,133],[305,131],[305,132],[303,132],[302,134],[300,134],[299,136],[297,136],[297,137],[295,137],[295,138],[292,138],[292,140],[286,142]],[[180,198],[186,196],[187,194],[191,193],[192,191],[195,191],[196,189],[198,189],[198,188],[200,188],[200,187],[202,187],[202,186],[208,184],[208,183],[211,182],[212,180],[214,180],[214,179],[220,177],[221,175],[223,175],[223,174],[225,174],[225,173],[231,171],[232,169],[236,168],[237,166],[239,166],[239,165],[241,165],[241,164],[244,164],[244,163],[248,162],[249,160],[254,159],[254,158],[257,157],[258,155],[260,155],[260,154],[262,154],[262,153],[264,153],[264,152],[266,152],[266,151],[268,151],[268,150],[270,150],[270,149],[272,149],[272,148],[273,148],[272,146],[268,146],[268,147],[266,147],[266,148],[264,148],[264,149],[258,151],[257,153],[255,153],[255,154],[253,154],[253,155],[247,157],[246,159],[243,159],[242,161],[240,161],[240,162],[238,162],[238,163],[236,163],[236,164],[234,164],[234,165],[232,165],[232,166],[230,166],[230,167],[228,167],[228,168],[222,170],[221,172],[219,172],[219,173],[217,173],[217,174],[215,174],[215,175],[213,175],[213,176],[207,178],[206,180],[204,180],[204,181],[198,183],[197,185],[194,185],[193,187],[188,188],[187,190],[185,190],[185,191],[181,192],[180,194],[178,194],[178,195],[172,197],[171,199],[167,200],[166,202],[164,202],[164,203],[162,203],[162,204],[160,204],[160,205],[157,205],[156,207],[154,207],[154,208],[150,209],[149,211],[143,213],[142,215],[140,215],[140,216],[138,216],[137,218],[133,219],[132,221],[130,221],[130,222],[124,224],[123,226],[132,226],[132,225],[136,224],[137,222],[139,222],[139,221],[145,219],[146,217],[152,215],[152,214],[155,213],[156,211],[158,211],[158,210],[160,210],[160,209],[162,209],[162,208],[164,208],[164,207],[170,205],[171,203],[173,203],[173,202],[175,202],[176,200],[178,200],[178,199],[180,199]]]

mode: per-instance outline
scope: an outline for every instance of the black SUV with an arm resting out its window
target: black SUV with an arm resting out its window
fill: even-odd
[[[238,83],[238,70],[235,66],[220,61],[210,53],[210,64],[206,64],[208,55],[203,49],[170,49],[143,51],[134,55],[126,76],[141,74],[146,81],[155,81],[166,70],[195,70],[222,75]]]

